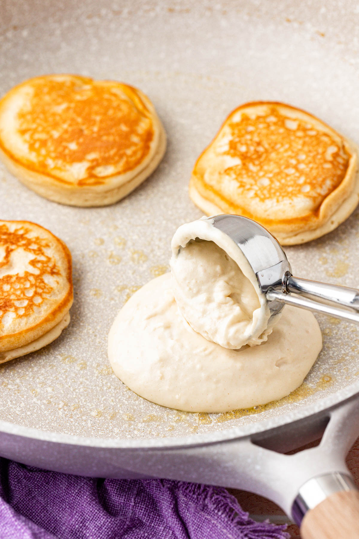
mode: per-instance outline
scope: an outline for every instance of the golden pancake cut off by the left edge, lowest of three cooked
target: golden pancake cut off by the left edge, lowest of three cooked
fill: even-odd
[[[27,221],[0,221],[0,363],[58,337],[73,302],[66,245]]]

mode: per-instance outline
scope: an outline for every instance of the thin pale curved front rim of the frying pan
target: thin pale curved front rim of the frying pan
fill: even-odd
[[[234,439],[248,438],[252,434],[262,433],[291,424],[300,419],[308,419],[326,409],[339,407],[340,404],[359,393],[359,380],[349,384],[332,395],[316,400],[314,403],[301,407],[299,410],[280,414],[274,418],[256,421],[247,425],[231,427],[212,433],[190,434],[181,437],[161,437],[145,439],[128,438],[95,438],[77,436],[76,434],[65,434],[60,432],[44,431],[34,427],[16,425],[10,421],[0,420],[0,434],[10,434],[36,441],[44,441],[55,444],[65,444],[74,447],[87,447],[94,449],[111,450],[167,450],[169,448],[184,448],[191,446],[210,445],[222,443]]]

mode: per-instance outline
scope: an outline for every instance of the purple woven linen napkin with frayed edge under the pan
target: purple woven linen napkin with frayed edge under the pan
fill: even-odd
[[[287,539],[226,489],[93,479],[0,458],[0,539]]]

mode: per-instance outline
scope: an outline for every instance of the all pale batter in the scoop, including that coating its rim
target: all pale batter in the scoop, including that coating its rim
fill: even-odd
[[[224,348],[267,340],[279,316],[268,320],[265,295],[242,251],[206,220],[179,227],[172,239],[173,293],[190,326]]]

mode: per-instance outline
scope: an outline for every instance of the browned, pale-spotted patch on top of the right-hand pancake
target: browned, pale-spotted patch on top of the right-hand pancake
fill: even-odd
[[[276,107],[269,114],[229,122],[231,139],[225,154],[241,159],[224,174],[238,190],[260,201],[284,201],[305,195],[317,208],[346,175],[349,154],[328,133],[297,119],[285,118]]]

